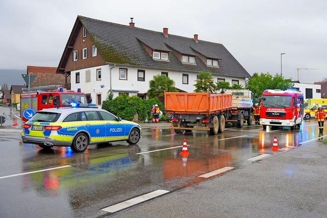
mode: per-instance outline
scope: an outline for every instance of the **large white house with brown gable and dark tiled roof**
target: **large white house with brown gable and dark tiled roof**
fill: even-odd
[[[102,104],[109,91],[146,98],[149,81],[165,75],[176,88],[191,92],[200,71],[216,82],[245,86],[250,75],[219,43],[176,36],[168,28],[155,32],[129,25],[78,16],[57,72],[81,88],[93,103]],[[70,77],[69,77],[70,75]]]

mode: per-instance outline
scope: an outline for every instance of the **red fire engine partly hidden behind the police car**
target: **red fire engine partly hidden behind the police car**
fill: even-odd
[[[28,108],[38,111],[45,108],[71,107],[72,102],[88,103],[81,89],[72,91],[58,85],[50,85],[33,87],[29,92],[28,88],[24,88],[20,94],[20,117],[22,121],[27,122],[28,119],[23,113]]]

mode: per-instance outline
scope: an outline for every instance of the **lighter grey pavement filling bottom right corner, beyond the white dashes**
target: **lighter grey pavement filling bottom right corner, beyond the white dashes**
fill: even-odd
[[[312,142],[113,214],[117,217],[326,217],[327,144]]]

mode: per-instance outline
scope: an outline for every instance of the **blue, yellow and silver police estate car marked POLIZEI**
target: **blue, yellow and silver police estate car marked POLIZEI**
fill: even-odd
[[[50,108],[37,111],[24,125],[24,143],[41,148],[71,147],[83,152],[89,144],[126,140],[136,144],[141,138],[141,126],[99,109],[94,104],[72,103],[71,108]]]

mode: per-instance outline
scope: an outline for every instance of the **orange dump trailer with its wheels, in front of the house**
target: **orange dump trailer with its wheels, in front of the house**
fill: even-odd
[[[176,133],[206,130],[216,135],[225,130],[232,108],[231,94],[209,92],[165,92],[165,110],[172,113]]]

